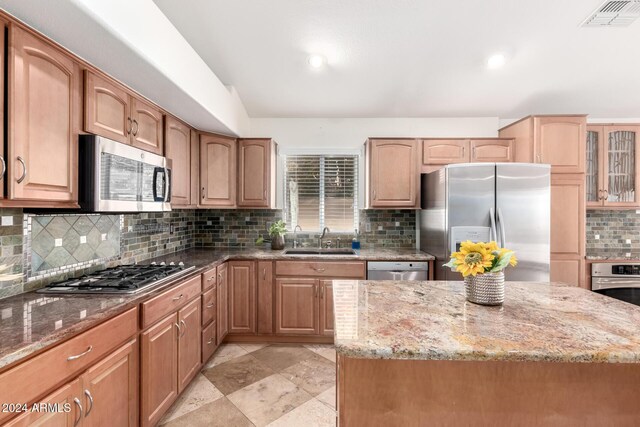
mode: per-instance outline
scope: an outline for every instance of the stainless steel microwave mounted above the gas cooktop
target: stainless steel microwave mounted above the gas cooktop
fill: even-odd
[[[81,135],[80,207],[86,212],[171,210],[165,157],[97,135]]]

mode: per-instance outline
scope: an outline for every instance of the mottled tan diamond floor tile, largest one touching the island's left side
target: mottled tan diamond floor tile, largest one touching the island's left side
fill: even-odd
[[[317,396],[336,383],[335,363],[322,357],[303,360],[283,369],[280,374],[312,396]]]

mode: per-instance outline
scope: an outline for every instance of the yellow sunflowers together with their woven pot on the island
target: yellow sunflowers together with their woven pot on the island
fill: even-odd
[[[462,242],[445,267],[462,273],[467,301],[482,305],[504,302],[504,269],[515,266],[515,253],[496,242]]]

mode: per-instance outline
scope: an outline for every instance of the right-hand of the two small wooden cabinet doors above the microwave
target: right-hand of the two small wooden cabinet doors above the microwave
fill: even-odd
[[[131,97],[131,121],[131,144],[141,150],[162,155],[162,111],[140,98]]]

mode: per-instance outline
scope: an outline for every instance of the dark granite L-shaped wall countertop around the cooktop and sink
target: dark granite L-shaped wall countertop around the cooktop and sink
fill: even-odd
[[[190,249],[145,261],[184,262],[196,274],[230,259],[420,260],[433,256],[414,249],[363,249],[358,255],[285,255],[259,249]],[[135,295],[52,295],[28,292],[0,299],[0,370],[71,338],[181,282]]]

